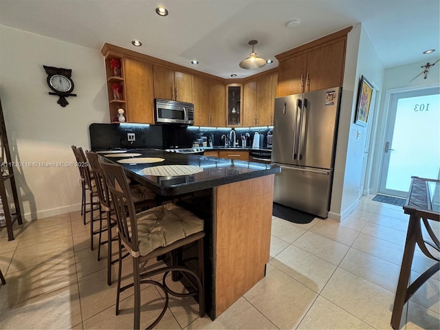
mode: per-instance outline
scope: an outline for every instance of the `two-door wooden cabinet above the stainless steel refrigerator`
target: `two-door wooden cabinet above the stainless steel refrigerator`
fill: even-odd
[[[279,54],[277,96],[342,86],[351,27]]]

